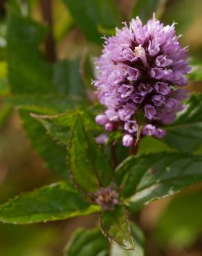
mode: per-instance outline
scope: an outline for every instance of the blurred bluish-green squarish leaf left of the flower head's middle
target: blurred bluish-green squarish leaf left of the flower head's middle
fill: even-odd
[[[80,60],[62,60],[55,64],[53,82],[59,93],[85,95],[85,86],[80,75]]]

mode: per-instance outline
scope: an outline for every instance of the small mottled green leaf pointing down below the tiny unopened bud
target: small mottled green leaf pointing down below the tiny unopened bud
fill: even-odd
[[[129,220],[125,209],[117,205],[114,210],[105,210],[100,214],[100,227],[110,242],[126,250],[134,250]]]

